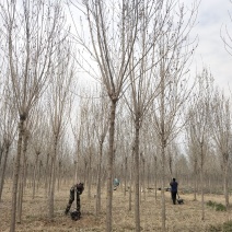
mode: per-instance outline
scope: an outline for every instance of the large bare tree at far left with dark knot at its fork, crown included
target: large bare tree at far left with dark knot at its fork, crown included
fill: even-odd
[[[50,78],[53,53],[62,40],[60,32],[65,25],[59,2],[53,1],[7,0],[0,3],[0,16],[4,25],[4,53],[10,69],[13,102],[19,114],[10,225],[10,231],[13,232],[24,123]]]

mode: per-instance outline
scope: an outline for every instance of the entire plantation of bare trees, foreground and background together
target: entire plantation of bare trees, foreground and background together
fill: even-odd
[[[201,190],[204,220],[205,185],[221,181],[217,170],[229,209],[230,98],[214,90],[207,69],[196,78],[189,72],[197,3],[0,3],[0,197],[4,179],[12,178],[11,232],[16,212],[21,221],[28,176],[32,197],[45,188],[50,219],[55,188],[69,176],[84,179],[89,197],[96,185],[96,214],[106,183],[106,231],[116,175],[125,195],[134,186],[136,231],[140,189],[150,185],[161,186],[165,231],[164,188],[174,175]],[[70,15],[74,31],[66,24]],[[95,85],[85,91],[77,80],[88,77]]]

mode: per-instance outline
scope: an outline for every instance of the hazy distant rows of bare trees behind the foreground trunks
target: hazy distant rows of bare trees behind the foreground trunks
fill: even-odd
[[[214,97],[213,102],[211,102],[211,106],[209,108],[209,115],[218,115],[218,119],[224,118],[221,116],[224,111],[220,107],[220,101],[223,98]],[[103,103],[104,101],[98,100],[98,103]],[[105,187],[106,182],[106,160],[107,160],[107,135],[105,140],[102,135],[98,132],[94,132],[100,130],[100,128],[107,127],[107,118],[101,120],[100,112],[98,112],[98,103],[96,101],[90,104],[89,101],[81,105],[80,112],[84,112],[81,118],[81,125],[79,125],[78,131],[81,130],[74,147],[70,144],[70,141],[65,140],[62,138],[60,140],[60,146],[58,146],[57,152],[57,162],[56,162],[56,188],[59,190],[59,186],[65,184],[67,181],[70,181],[70,176],[74,179],[74,173],[78,173],[78,178],[84,181],[86,185],[88,196],[91,197],[93,194],[96,194],[96,214],[101,211],[101,188]],[[217,104],[216,104],[217,103]],[[227,103],[228,104],[228,103]],[[224,105],[227,105],[224,104]],[[213,108],[212,108],[213,106]],[[107,104],[105,105],[107,107]],[[121,181],[123,190],[126,193],[128,189],[134,189],[134,174],[136,172],[135,167],[135,155],[134,155],[134,132],[132,132],[132,121],[130,120],[130,116],[125,114],[123,111],[126,106],[121,105],[119,108],[118,115],[120,117],[116,121],[116,144],[114,151],[114,176],[118,177]],[[198,108],[199,111],[199,108]],[[218,112],[218,114],[217,114]],[[227,111],[225,111],[227,112]],[[225,113],[224,112],[224,113]],[[201,114],[201,113],[200,113]],[[227,117],[229,112],[227,112]],[[94,120],[93,120],[94,118]],[[230,190],[229,182],[227,185],[222,184],[222,181],[228,181],[228,177],[231,179],[231,175],[228,175],[223,171],[225,170],[224,165],[227,165],[227,172],[231,173],[231,160],[224,164],[224,159],[222,153],[220,153],[219,147],[213,142],[214,137],[220,131],[223,132],[223,128],[218,128],[218,132],[214,134],[213,130],[219,126],[219,121],[212,124],[210,121],[210,135],[206,134],[207,140],[204,146],[208,149],[201,152],[201,146],[198,144],[196,136],[196,121],[194,124],[194,117],[189,119],[187,116],[188,123],[186,124],[187,132],[185,136],[189,140],[185,140],[182,138],[181,140],[173,140],[172,143],[167,144],[166,155],[165,155],[165,187],[169,187],[169,181],[172,176],[176,176],[179,179],[179,189],[187,190],[193,193],[193,197],[197,198],[197,193],[202,192],[202,196],[205,193],[213,193],[213,194],[222,194],[222,187],[225,187],[225,190]],[[211,120],[211,119],[208,119]],[[223,119],[224,120],[224,119]],[[202,128],[202,121],[198,121],[198,127]],[[97,125],[101,125],[100,127]],[[38,128],[43,128],[43,120],[37,123]],[[53,126],[47,125],[47,130],[53,131]],[[90,128],[94,128],[92,135],[89,136]],[[76,129],[77,130],[77,129]],[[192,131],[190,131],[192,130]],[[152,135],[153,132],[153,135]],[[48,134],[47,134],[48,135]],[[66,131],[66,135],[70,137],[70,132]],[[44,138],[46,142],[42,142],[39,138]],[[146,120],[144,126],[141,128],[141,146],[140,146],[140,154],[139,154],[139,178],[140,185],[139,188],[153,188],[155,189],[155,198],[158,196],[158,188],[161,187],[162,184],[162,160],[161,160],[161,151],[158,143],[154,143],[153,140],[155,138],[154,127],[151,124],[151,120]],[[223,137],[218,137],[222,139]],[[26,136],[25,136],[26,139]],[[102,139],[102,140],[101,140]],[[196,139],[196,140],[195,140]],[[47,143],[51,143],[49,136],[46,136],[44,132],[43,136],[38,135],[37,130],[32,130],[30,138],[27,138],[27,151],[25,151],[25,147],[23,147],[23,159],[21,161],[21,171],[20,175],[20,185],[22,187],[31,187],[32,198],[36,197],[36,192],[40,188],[44,189],[45,196],[48,197],[49,188],[51,187],[50,179],[50,166],[51,166],[51,155],[50,152],[53,150],[50,146],[45,146]],[[223,143],[222,143],[223,144]],[[78,148],[78,150],[77,150]],[[77,153],[76,153],[77,152]],[[101,153],[102,152],[102,153]],[[229,154],[231,152],[229,147]],[[5,153],[7,154],[7,153]],[[5,159],[5,154],[2,155],[2,160]],[[9,161],[5,166],[3,163],[1,167],[7,169],[7,173],[4,175],[5,181],[12,179],[13,175],[13,159],[15,158],[15,148],[12,147]],[[25,156],[24,156],[25,155]],[[77,156],[76,156],[77,155]],[[77,162],[77,163],[76,163]],[[204,163],[204,164],[202,164]],[[77,165],[76,165],[77,164]],[[78,166],[78,169],[77,169]],[[1,169],[2,172],[2,169]],[[97,175],[95,175],[97,173]],[[201,175],[202,173],[202,175]],[[200,175],[199,175],[200,174]],[[195,176],[196,175],[196,176]],[[227,178],[223,178],[223,176]],[[3,176],[3,175],[2,175]],[[132,183],[131,183],[132,181]],[[11,181],[10,181],[11,183]],[[132,185],[131,185],[132,184]],[[231,184],[231,183],[230,183]],[[91,187],[94,187],[92,189]],[[129,188],[128,188],[129,187]],[[97,192],[95,192],[95,188]],[[105,189],[105,188],[104,188]],[[20,189],[19,189],[19,193]],[[143,197],[146,199],[146,192],[143,193]],[[225,194],[225,200],[229,200],[229,195]],[[129,197],[129,196],[128,196]],[[131,197],[131,196],[130,196]],[[128,202],[131,204],[131,198],[128,199]],[[225,201],[225,204],[229,201]],[[202,199],[204,204],[204,199]],[[204,205],[202,205],[204,206]],[[131,206],[130,206],[131,207]],[[131,208],[130,208],[131,209]],[[204,208],[202,208],[204,210]],[[202,211],[204,213],[204,211]],[[205,214],[202,216],[205,217]],[[18,219],[21,221],[21,219]],[[169,219],[167,219],[169,220]]]

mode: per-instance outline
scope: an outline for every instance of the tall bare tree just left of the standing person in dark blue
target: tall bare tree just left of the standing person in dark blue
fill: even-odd
[[[165,176],[166,148],[184,126],[184,105],[189,100],[193,90],[187,77],[188,65],[196,45],[190,44],[189,34],[193,28],[197,5],[193,5],[185,22],[184,5],[179,8],[176,1],[169,1],[165,5],[169,12],[169,23],[165,32],[158,40],[160,61],[156,79],[160,82],[159,96],[154,100],[153,126],[158,135],[161,151],[162,173],[162,230],[165,231]],[[177,16],[176,16],[176,12]],[[176,21],[174,23],[173,21]],[[187,23],[187,24],[186,24]],[[170,179],[170,178],[169,178]]]

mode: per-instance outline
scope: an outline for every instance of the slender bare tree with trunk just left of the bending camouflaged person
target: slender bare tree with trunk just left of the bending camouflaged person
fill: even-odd
[[[56,184],[56,165],[58,158],[58,144],[65,132],[68,120],[66,119],[71,111],[72,94],[70,92],[71,81],[74,77],[74,67],[71,55],[72,47],[66,40],[59,45],[53,60],[51,72],[53,83],[48,88],[48,109],[50,114],[53,152],[50,162],[50,189],[48,197],[48,217],[54,218],[54,197]],[[50,95],[49,95],[50,94]]]

